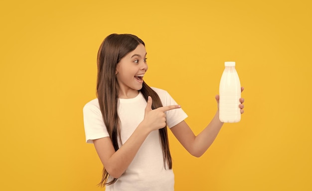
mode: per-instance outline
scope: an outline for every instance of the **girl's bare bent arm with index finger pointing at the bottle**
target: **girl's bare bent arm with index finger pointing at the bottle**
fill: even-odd
[[[116,152],[109,137],[93,140],[106,171],[112,177],[119,178],[129,167],[147,136],[152,131],[165,126],[164,112],[176,108],[180,108],[180,106],[170,105],[152,110],[152,98],[149,97],[143,121]]]

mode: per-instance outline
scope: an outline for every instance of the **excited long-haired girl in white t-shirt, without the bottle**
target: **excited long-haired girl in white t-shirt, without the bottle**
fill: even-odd
[[[145,43],[132,34],[107,36],[98,52],[97,99],[84,106],[83,114],[86,142],[94,144],[104,166],[99,185],[106,191],[173,191],[166,127],[191,155],[200,157],[223,125],[217,110],[195,136],[172,97],[143,80],[146,56]],[[244,112],[243,104],[237,107]]]

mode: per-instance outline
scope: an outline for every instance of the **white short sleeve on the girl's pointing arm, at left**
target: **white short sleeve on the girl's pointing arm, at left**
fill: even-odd
[[[93,143],[95,139],[109,137],[102,113],[100,108],[94,104],[95,101],[97,99],[92,100],[83,107],[83,122],[87,143]]]

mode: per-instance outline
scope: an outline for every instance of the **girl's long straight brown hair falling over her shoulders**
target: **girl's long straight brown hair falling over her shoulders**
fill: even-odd
[[[119,149],[118,139],[120,140],[121,128],[117,112],[119,87],[115,73],[116,67],[119,61],[129,52],[135,50],[140,43],[145,46],[143,40],[132,34],[111,34],[104,39],[98,51],[97,97],[104,124],[112,140],[115,151]],[[152,109],[162,107],[157,93],[145,82],[143,82],[140,91],[146,101],[148,100],[148,96],[152,97]],[[166,126],[159,129],[159,137],[161,139],[164,168],[166,168],[167,163],[168,168],[171,169],[172,161]],[[104,167],[102,181],[99,183],[99,186],[105,187],[105,185],[111,185],[117,181],[117,179],[113,178],[112,181],[108,182],[109,177],[110,175]]]

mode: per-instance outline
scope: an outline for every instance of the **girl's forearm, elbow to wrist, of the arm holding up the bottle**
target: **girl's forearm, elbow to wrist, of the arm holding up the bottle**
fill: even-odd
[[[207,127],[195,137],[192,155],[200,157],[204,154],[217,137],[222,125],[223,123],[219,120],[219,111],[217,111]]]

